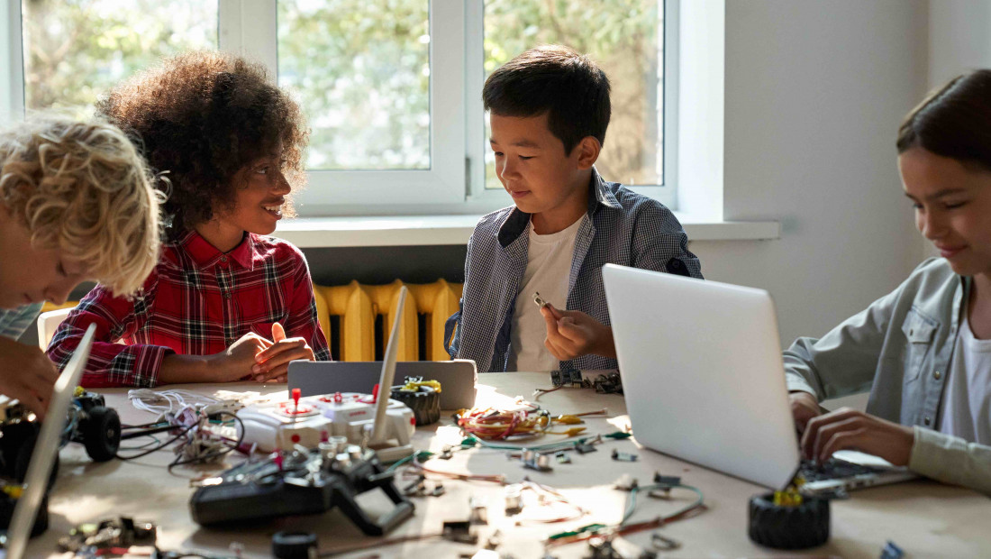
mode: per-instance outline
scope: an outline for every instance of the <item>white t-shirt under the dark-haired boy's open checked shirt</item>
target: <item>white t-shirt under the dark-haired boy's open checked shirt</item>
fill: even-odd
[[[568,299],[568,277],[575,252],[575,239],[582,225],[581,219],[567,229],[549,235],[533,232],[533,223],[526,226],[529,249],[526,272],[520,281],[516,295],[516,307],[512,313],[509,360],[506,371],[557,371],[558,360],[544,346],[547,323],[540,314],[540,307],[533,302],[533,292],[540,298],[564,309]]]

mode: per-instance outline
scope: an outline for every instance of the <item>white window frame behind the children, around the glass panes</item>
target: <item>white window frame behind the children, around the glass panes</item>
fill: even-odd
[[[218,49],[253,57],[277,76],[276,1],[217,0]],[[676,210],[681,0],[659,1],[664,5],[664,184],[629,188]],[[7,53],[0,52],[0,59],[6,55],[11,63],[9,72],[0,72],[0,110],[20,118],[25,110],[21,2],[5,4],[8,25],[0,33],[8,37],[0,43]],[[430,0],[429,15],[430,168],[307,170],[307,187],[296,194],[300,216],[479,214],[512,203],[503,190],[485,188],[484,0]]]

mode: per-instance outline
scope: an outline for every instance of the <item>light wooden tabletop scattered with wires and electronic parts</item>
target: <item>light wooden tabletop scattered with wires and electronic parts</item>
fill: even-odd
[[[535,388],[548,386],[546,374],[503,373],[486,374],[479,379],[478,405],[505,406],[514,396],[532,399]],[[186,385],[165,389],[187,389],[212,394],[215,391],[260,391],[284,393],[285,385]],[[135,409],[123,389],[102,391],[107,403],[115,407],[125,424],[150,421],[152,415]],[[598,394],[588,389],[563,389],[540,396],[538,403],[553,414],[590,411],[606,407],[607,418],[590,418],[590,433],[607,433],[623,428],[629,422],[622,396]],[[417,449],[439,452],[446,444],[458,444],[459,430],[451,425],[448,414],[439,425],[419,428],[413,437]],[[545,435],[539,443],[563,440],[561,435]],[[132,441],[125,441],[125,444]],[[539,444],[534,443],[534,444]],[[400,524],[386,537],[439,532],[446,520],[465,520],[469,515],[469,499],[482,498],[488,503],[489,523],[478,527],[481,542],[499,530],[502,545],[498,552],[516,558],[543,557],[542,539],[548,534],[593,522],[614,523],[622,516],[626,493],[612,489],[613,482],[628,474],[649,483],[655,472],[681,476],[683,483],[705,494],[708,510],[661,528],[660,533],[681,543],[666,557],[760,557],[781,555],[812,555],[841,557],[877,557],[888,540],[894,541],[913,557],[977,557],[991,555],[991,499],[972,491],[920,480],[893,486],[854,492],[847,501],[831,503],[831,535],[824,546],[802,552],[780,552],[751,542],[746,533],[747,501],[764,490],[759,486],[689,464],[670,456],[639,447],[634,439],[608,441],[599,452],[572,454],[571,464],[552,460],[553,471],[535,472],[521,468],[518,461],[508,460],[505,453],[476,448],[454,453],[450,460],[431,460],[428,466],[450,472],[473,474],[504,474],[508,483],[530,480],[553,487],[572,503],[581,505],[587,514],[576,520],[557,523],[533,521],[528,510],[516,516],[504,514],[504,490],[485,482],[443,480],[446,493],[441,497],[413,498],[413,517]],[[635,462],[611,459],[611,450],[638,455]],[[193,490],[189,479],[209,473],[219,473],[222,467],[176,468],[173,474],[165,465],[173,458],[168,451],[153,453],[145,458],[122,462],[96,464],[89,460],[78,444],[61,450],[61,464],[55,490],[51,497],[51,527],[28,546],[29,557],[55,555],[55,542],[68,529],[80,522],[125,515],[147,519],[159,524],[159,546],[168,550],[197,551],[212,555],[233,555],[231,542],[243,545],[245,557],[271,555],[272,534],[279,530],[315,532],[321,551],[352,544],[374,545],[378,538],[364,536],[340,511],[325,514],[282,518],[238,529],[206,529],[198,526],[189,515],[189,498]],[[232,457],[227,467],[240,458]],[[646,520],[659,514],[671,513],[691,503],[694,495],[676,491],[670,501],[638,500],[633,520]],[[381,495],[361,498],[361,503],[379,509],[385,502]],[[633,544],[646,545],[651,531],[628,536]],[[440,539],[406,542],[376,549],[364,549],[346,557],[438,557],[471,556],[479,546],[448,542]],[[553,548],[555,557],[583,557],[588,553],[585,543]]]

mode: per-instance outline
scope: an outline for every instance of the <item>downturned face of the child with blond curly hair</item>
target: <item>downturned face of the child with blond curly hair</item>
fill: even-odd
[[[59,249],[36,248],[28,227],[0,203],[0,308],[45,300],[65,302],[88,279],[85,267]]]

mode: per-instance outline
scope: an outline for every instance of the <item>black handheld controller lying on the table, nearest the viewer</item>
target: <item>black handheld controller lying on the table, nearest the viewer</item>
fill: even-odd
[[[382,535],[413,514],[413,503],[399,494],[392,477],[374,451],[335,438],[316,449],[275,452],[204,480],[189,507],[195,522],[212,526],[314,514],[338,506],[366,534]],[[356,501],[375,489],[395,504],[377,520]]]

